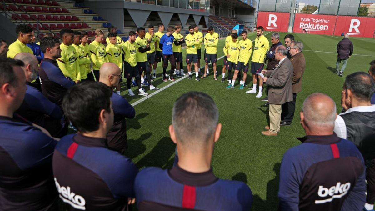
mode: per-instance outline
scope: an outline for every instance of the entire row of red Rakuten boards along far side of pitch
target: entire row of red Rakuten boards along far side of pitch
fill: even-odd
[[[257,26],[268,31],[288,32],[289,15],[287,12],[258,12]],[[293,32],[338,36],[344,32],[350,36],[374,38],[375,18],[297,13]]]

